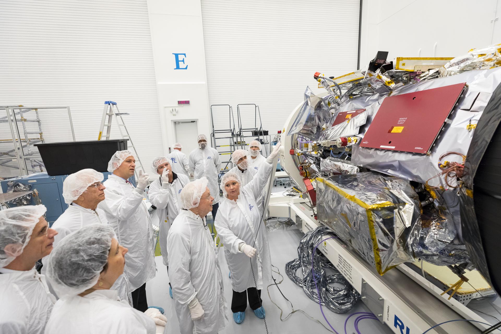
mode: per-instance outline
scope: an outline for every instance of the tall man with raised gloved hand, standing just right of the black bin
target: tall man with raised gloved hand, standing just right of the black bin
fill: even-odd
[[[118,242],[129,251],[125,254],[124,277],[128,279],[134,308],[145,311],[146,282],[155,277],[154,240],[150,214],[143,201],[148,174],[139,170],[137,186],[128,178],[134,175],[136,160],[131,151],[117,151],[108,163],[112,172],[104,182],[105,199],[99,207],[106,212]],[[118,288],[120,291],[121,289]]]

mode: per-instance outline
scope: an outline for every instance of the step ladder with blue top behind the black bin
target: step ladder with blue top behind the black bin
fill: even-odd
[[[139,155],[137,154],[136,147],[134,146],[134,143],[132,142],[132,138],[130,137],[129,131],[127,130],[127,127],[125,126],[125,122],[122,118],[123,115],[130,115],[129,113],[121,113],[118,110],[118,106],[116,102],[113,101],[105,101],[104,102],[104,111],[103,111],[103,118],[101,119],[101,128],[99,129],[99,136],[97,140],[102,140],[103,138],[105,140],[110,139],[111,135],[111,125],[113,123],[113,116],[115,116],[115,122],[118,126],[118,131],[120,132],[120,137],[122,139],[128,139],[129,143],[127,144],[127,149],[132,150],[134,153],[134,156],[136,157],[136,172],[135,175],[137,175],[137,171],[139,168],[143,170],[143,172],[147,173],[148,171],[143,167],[143,164],[141,163],[141,160],[139,159]],[[108,119],[106,119],[108,117]],[[106,127],[106,134],[103,135],[104,128]],[[129,179],[130,180],[130,179]],[[135,180],[133,180],[133,184],[135,184]],[[131,181],[132,182],[132,181]]]

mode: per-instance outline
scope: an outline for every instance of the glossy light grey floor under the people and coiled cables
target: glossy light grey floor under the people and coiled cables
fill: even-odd
[[[283,189],[283,188],[282,188]],[[272,224],[270,224],[271,226]],[[289,300],[294,305],[294,309],[302,309],[306,311],[312,317],[320,320],[325,326],[329,327],[326,320],[322,316],[319,304],[309,299],[304,293],[303,289],[294,284],[289,277],[285,274],[285,263],[297,258],[297,247],[303,233],[297,229],[295,226],[288,227],[283,226],[283,228],[275,225],[274,228],[269,229],[270,238],[270,251],[272,255],[272,263],[279,268],[280,273],[284,275],[284,281],[280,284],[280,288],[284,295],[289,298]],[[226,301],[228,302],[228,324],[225,330],[221,331],[220,334],[230,334],[230,333],[266,333],[264,320],[256,317],[254,312],[247,307],[245,311],[245,320],[241,324],[236,324],[233,321],[232,312],[229,308],[231,303],[231,282],[230,278],[227,276],[228,267],[226,265],[226,260],[224,258],[223,250],[220,249],[219,254],[219,264],[223,272],[223,282],[224,282],[224,294]],[[167,316],[169,322],[166,327],[166,333],[168,334],[178,334],[179,333],[179,322],[175,314],[172,299],[169,296],[169,278],[167,276],[167,269],[162,263],[161,256],[156,257],[157,263],[157,275],[155,278],[150,280],[146,284],[146,291],[148,296],[148,304],[150,306],[161,306],[165,309],[165,315]],[[280,276],[274,273],[275,279],[279,281]],[[271,283],[268,283],[271,284]],[[278,288],[275,285],[269,288],[270,296],[266,289],[262,291],[263,306],[266,310],[266,321],[268,324],[268,332],[271,333],[288,333],[288,334],[304,334],[308,332],[315,333],[327,333],[328,330],[324,328],[321,324],[308,318],[301,312],[296,312],[289,316],[285,321],[280,320],[280,309],[275,306],[270,297],[275,301],[283,310],[284,314],[282,318],[285,318],[292,309],[290,304],[284,299],[280,294]],[[367,312],[369,311],[365,305],[359,301],[357,306],[351,312]],[[336,314],[324,307],[324,314],[331,323],[331,325],[339,332],[339,334],[344,334],[344,322],[346,317],[351,313],[347,314]],[[352,316],[347,325],[347,333],[354,334],[355,329],[353,326],[353,321],[356,316]],[[391,333],[389,327],[381,324],[379,321],[365,319],[359,322],[359,330],[362,334],[383,334]]]

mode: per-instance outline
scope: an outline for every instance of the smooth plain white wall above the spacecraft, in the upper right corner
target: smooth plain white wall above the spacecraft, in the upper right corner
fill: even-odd
[[[422,12],[443,15],[418,15]],[[362,9],[361,67],[378,51],[396,57],[457,57],[501,43],[501,1],[372,0]],[[407,18],[418,18],[413,23]]]

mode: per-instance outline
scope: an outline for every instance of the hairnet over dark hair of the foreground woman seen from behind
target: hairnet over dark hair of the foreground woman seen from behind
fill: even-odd
[[[52,250],[47,278],[59,298],[75,296],[94,286],[108,262],[113,229],[91,224],[64,237]]]

